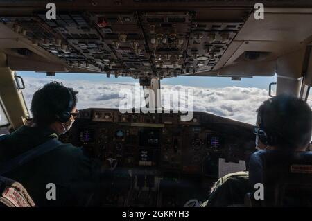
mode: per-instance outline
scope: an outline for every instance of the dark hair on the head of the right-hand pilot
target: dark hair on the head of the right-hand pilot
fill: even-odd
[[[257,112],[260,127],[275,136],[278,149],[296,150],[310,143],[312,111],[303,100],[281,94],[264,101]]]

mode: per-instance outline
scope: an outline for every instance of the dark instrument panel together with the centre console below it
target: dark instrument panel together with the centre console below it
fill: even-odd
[[[185,206],[207,200],[220,157],[248,161],[254,136],[245,123],[204,112],[193,112],[191,121],[181,115],[83,109],[60,139],[99,161],[117,162],[97,193],[100,206]]]

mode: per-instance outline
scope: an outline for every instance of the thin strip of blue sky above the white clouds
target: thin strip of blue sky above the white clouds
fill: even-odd
[[[33,71],[17,71],[21,77],[32,78],[54,78],[62,80],[89,80],[93,82],[139,82],[138,79],[111,76],[107,78],[103,74],[89,74],[89,73],[56,73],[55,77],[46,76],[46,73],[35,73]],[[193,76],[179,76],[177,78],[165,78],[162,80],[164,85],[184,85],[192,87],[257,87],[260,89],[268,89],[270,82],[276,82],[276,76],[272,77],[254,77],[242,78],[241,81],[232,81],[231,78],[220,77],[193,77]]]

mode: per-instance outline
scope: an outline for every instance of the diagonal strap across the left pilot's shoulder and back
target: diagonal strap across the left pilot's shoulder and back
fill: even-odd
[[[0,141],[1,141],[0,136]],[[58,141],[58,139],[53,138],[49,141],[46,141],[45,143],[42,143],[38,145],[37,147],[28,150],[27,152],[24,152],[23,154],[20,154],[19,156],[10,159],[4,163],[0,164],[0,175],[3,175],[4,173],[8,173],[11,170],[14,170],[15,168],[24,165],[28,161],[31,161],[32,159],[35,159],[37,157],[40,157],[43,154],[46,154],[47,152],[50,152],[51,150],[54,150],[55,148],[58,148],[63,143],[61,141]]]

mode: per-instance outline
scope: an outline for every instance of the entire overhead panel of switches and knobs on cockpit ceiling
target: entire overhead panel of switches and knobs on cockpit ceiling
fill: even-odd
[[[196,12],[45,12],[30,17],[0,17],[67,64],[132,78],[170,78],[211,71],[243,26],[239,21],[212,21]]]

